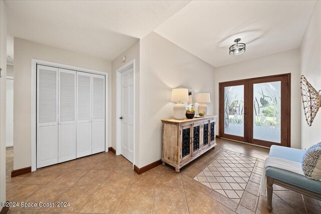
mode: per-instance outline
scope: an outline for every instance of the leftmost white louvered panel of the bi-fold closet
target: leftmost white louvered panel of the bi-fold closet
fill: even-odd
[[[58,68],[37,65],[37,168],[58,163]]]

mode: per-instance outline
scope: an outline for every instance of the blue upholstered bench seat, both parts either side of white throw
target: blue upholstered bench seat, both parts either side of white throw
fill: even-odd
[[[304,150],[272,145],[269,156],[301,163],[304,153]],[[308,179],[304,175],[271,166],[266,167],[265,174],[285,183],[321,194],[321,181],[319,180]]]

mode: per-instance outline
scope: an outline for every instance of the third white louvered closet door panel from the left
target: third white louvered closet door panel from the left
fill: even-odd
[[[92,74],[77,71],[77,158],[92,154]]]

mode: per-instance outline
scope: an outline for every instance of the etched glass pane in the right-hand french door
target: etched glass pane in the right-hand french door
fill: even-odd
[[[253,139],[281,142],[281,81],[253,84]]]

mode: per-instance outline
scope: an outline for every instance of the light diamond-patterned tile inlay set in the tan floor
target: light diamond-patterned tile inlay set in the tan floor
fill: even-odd
[[[264,160],[221,149],[194,180],[255,211]],[[244,191],[246,191],[244,193]],[[251,193],[251,194],[249,194]],[[251,196],[252,203],[245,197]]]

